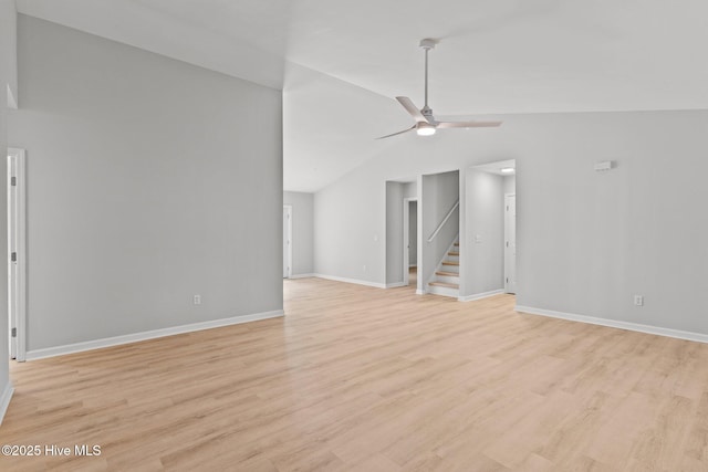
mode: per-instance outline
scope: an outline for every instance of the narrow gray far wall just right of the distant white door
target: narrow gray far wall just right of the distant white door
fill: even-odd
[[[314,272],[314,195],[284,191],[283,204],[292,206],[292,275]]]

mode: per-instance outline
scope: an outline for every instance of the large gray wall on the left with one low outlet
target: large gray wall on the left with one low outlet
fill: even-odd
[[[24,15],[18,32],[28,349],[282,310],[281,93]]]

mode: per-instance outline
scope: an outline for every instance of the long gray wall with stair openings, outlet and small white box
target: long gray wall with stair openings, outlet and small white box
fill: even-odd
[[[708,291],[708,112],[575,113],[503,116],[473,133],[404,135],[361,168],[315,196],[361,202],[347,228],[383,231],[382,182],[408,175],[516,159],[518,295],[521,305],[708,334],[697,294]],[[434,157],[433,157],[434,156]],[[615,160],[595,172],[600,160]],[[316,206],[316,203],[315,203]],[[321,206],[326,221],[337,206]],[[315,210],[317,211],[317,209]],[[319,232],[315,228],[315,239]],[[346,258],[379,261],[369,241],[352,241]],[[334,275],[350,268],[315,250]],[[369,262],[371,263],[371,262]],[[371,279],[384,281],[383,272]],[[642,294],[645,306],[633,306]]]

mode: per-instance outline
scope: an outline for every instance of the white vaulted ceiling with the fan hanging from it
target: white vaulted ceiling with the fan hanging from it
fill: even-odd
[[[17,0],[20,12],[283,88],[284,186],[315,191],[437,115],[708,108],[708,1]],[[415,138],[415,137],[413,137]],[[391,144],[393,141],[393,144]]]

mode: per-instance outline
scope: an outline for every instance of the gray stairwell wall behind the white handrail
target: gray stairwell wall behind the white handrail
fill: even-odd
[[[419,290],[425,290],[437,265],[459,234],[460,212],[457,209],[433,242],[428,242],[433,232],[442,222],[459,197],[459,171],[423,176],[419,200],[421,207],[419,210],[421,217],[420,228],[423,231],[418,251],[421,252],[418,266]]]

